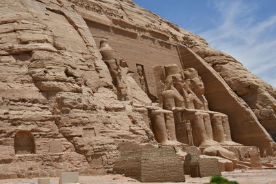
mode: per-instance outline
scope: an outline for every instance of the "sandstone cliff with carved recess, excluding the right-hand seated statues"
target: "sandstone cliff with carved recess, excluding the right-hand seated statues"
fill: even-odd
[[[271,152],[275,88],[132,1],[2,0],[0,12],[0,178],[106,173],[119,144],[156,144],[146,107],[158,100],[152,68],[168,63],[197,70],[233,141]]]

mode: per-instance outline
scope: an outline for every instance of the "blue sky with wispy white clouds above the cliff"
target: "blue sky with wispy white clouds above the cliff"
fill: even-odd
[[[132,0],[276,87],[276,0]]]

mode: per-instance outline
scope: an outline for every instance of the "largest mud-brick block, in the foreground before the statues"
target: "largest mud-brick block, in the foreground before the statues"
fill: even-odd
[[[121,152],[113,171],[141,182],[184,182],[179,156],[172,147]]]

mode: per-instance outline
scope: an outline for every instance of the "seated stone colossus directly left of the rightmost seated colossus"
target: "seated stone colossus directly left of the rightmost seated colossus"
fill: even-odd
[[[166,73],[166,81],[172,81],[172,83],[166,83],[166,85],[169,84],[169,86],[171,86],[168,88],[168,86],[165,85],[164,88],[164,92],[170,89],[166,92],[170,94],[170,98],[168,98],[170,101],[164,99],[164,92],[162,92],[162,102],[165,103],[163,108],[166,110],[175,110],[176,108],[186,110],[186,113],[184,114],[174,111],[176,134],[179,141],[182,143],[189,143],[186,125],[183,125],[183,120],[186,120],[192,123],[194,129],[193,132],[195,134],[193,139],[195,139],[196,145],[219,145],[219,143],[213,141],[213,132],[209,114],[196,110],[196,108],[203,110],[202,103],[196,95],[193,94],[193,91],[189,90],[184,81],[184,73],[179,72],[177,65],[165,65],[164,71]],[[175,95],[174,100],[172,100],[172,94]]]

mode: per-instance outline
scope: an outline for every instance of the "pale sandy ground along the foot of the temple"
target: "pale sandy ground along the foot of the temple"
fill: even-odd
[[[276,170],[238,170],[235,172],[223,172],[222,176],[228,178],[230,181],[237,181],[240,184],[276,184]],[[57,184],[59,178],[50,178],[51,184]],[[207,183],[210,177],[204,178],[190,178],[186,176],[185,183]],[[140,183],[132,178],[124,177],[121,175],[104,175],[104,176],[79,176],[79,182],[83,184],[88,183],[103,183],[103,184],[126,184],[126,183]],[[30,179],[10,179],[0,180],[0,184],[37,184],[37,178]]]

